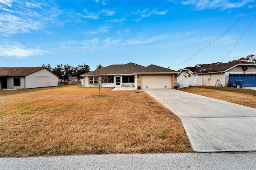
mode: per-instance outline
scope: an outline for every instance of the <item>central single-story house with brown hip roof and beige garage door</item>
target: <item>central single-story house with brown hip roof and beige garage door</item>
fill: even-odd
[[[135,63],[110,65],[102,69],[82,74],[84,87],[93,87],[97,83],[97,73],[107,73],[110,82],[104,87],[140,86],[142,89],[164,89],[177,85],[178,71],[149,65],[144,67]]]

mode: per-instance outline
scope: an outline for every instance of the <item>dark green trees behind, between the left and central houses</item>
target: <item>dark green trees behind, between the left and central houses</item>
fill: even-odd
[[[82,74],[90,72],[90,66],[85,64],[84,65],[78,65],[77,67],[73,67],[68,64],[60,64],[57,65],[57,67],[52,67],[50,64],[48,65],[42,65],[41,67],[46,67],[56,75],[58,75],[59,79],[62,80],[68,80],[70,77],[76,77],[78,79],[82,79]],[[103,68],[102,65],[97,65],[96,69]]]

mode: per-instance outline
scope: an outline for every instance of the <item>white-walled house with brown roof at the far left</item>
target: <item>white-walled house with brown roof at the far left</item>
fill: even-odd
[[[46,67],[0,67],[0,89],[58,86],[58,76]]]

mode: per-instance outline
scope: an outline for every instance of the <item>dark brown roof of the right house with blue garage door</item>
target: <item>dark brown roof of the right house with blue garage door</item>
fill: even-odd
[[[237,65],[256,65],[256,63],[252,62],[247,62],[247,61],[232,61],[228,63],[222,63],[222,62],[217,62],[217,63],[210,63],[210,64],[200,64],[201,67],[186,67],[182,70],[190,70],[194,74],[204,74],[204,73],[213,73],[213,72],[225,72],[233,67],[236,67]],[[198,64],[199,65],[199,64]]]

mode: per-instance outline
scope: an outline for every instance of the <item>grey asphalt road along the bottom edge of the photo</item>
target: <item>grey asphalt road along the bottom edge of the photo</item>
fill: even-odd
[[[255,170],[256,152],[104,154],[0,158],[0,170]]]

